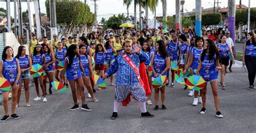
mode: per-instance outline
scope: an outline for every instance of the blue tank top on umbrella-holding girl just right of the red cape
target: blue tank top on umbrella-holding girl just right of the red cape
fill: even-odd
[[[159,55],[159,52],[154,53],[154,64],[153,64],[154,71],[156,71],[157,75],[160,75],[164,69],[166,68],[166,58],[163,58]],[[163,74],[167,75],[167,71]],[[154,75],[152,75],[154,77]]]

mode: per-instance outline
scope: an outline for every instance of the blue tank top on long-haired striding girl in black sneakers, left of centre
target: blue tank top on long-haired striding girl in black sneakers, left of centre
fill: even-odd
[[[70,63],[69,56],[67,56],[66,59],[68,60],[68,63]],[[77,80],[82,77],[79,62],[79,58],[75,56],[72,64],[68,65],[68,68],[66,69],[66,78],[68,80]]]

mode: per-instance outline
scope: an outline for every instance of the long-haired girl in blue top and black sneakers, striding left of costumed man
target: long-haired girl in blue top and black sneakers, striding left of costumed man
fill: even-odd
[[[75,103],[75,105],[70,108],[70,110],[79,109],[76,91],[80,91],[80,97],[83,103],[81,109],[91,111],[91,109],[85,103],[84,83],[81,71],[83,72],[83,76],[85,77],[85,71],[80,62],[79,48],[77,45],[71,45],[66,52],[65,67],[62,73],[62,76],[64,77],[64,73],[66,72],[66,78],[69,80],[73,101]]]

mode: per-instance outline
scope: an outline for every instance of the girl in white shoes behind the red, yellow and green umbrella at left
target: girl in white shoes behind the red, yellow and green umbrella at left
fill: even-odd
[[[36,45],[35,48],[33,49],[32,64],[39,64],[39,65],[42,65],[43,67],[45,65],[45,56],[43,52],[43,47],[41,45]],[[43,75],[33,78],[33,80],[36,86],[36,93],[37,93],[37,97],[34,99],[34,101],[41,100],[41,97],[39,94],[39,85],[38,85],[38,80],[39,80],[39,84],[41,86],[43,96],[44,96],[43,102],[46,102],[47,99],[46,99],[46,90],[44,87]]]

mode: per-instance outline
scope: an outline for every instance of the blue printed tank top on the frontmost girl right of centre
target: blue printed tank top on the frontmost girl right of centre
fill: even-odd
[[[206,81],[217,80],[218,71],[216,71],[216,58],[213,57],[212,61],[209,61],[208,55],[205,54],[204,61],[201,65],[200,76]]]

